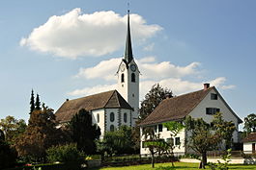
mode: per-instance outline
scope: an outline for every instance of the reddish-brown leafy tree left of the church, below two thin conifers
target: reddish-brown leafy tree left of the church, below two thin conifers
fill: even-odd
[[[43,161],[46,149],[64,142],[61,130],[56,129],[53,109],[43,106],[42,110],[30,114],[28,127],[16,138],[14,147],[19,157]]]

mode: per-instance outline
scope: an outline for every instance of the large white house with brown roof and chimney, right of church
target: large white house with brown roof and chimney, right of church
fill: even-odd
[[[241,118],[228,106],[223,97],[219,94],[214,86],[205,84],[204,89],[190,92],[181,96],[167,98],[163,100],[156,109],[140,123],[141,132],[141,155],[150,154],[148,148],[143,147],[145,137],[142,135],[144,127],[154,126],[156,134],[165,141],[170,140],[170,132],[162,126],[162,123],[168,121],[182,121],[186,115],[192,118],[203,118],[210,123],[213,120],[213,114],[221,112],[223,119],[234,122],[236,131],[233,133],[232,140],[234,143],[239,139],[239,124],[242,123]],[[173,140],[176,147],[174,152],[185,154],[189,150],[185,146],[187,132],[185,129],[178,134]]]

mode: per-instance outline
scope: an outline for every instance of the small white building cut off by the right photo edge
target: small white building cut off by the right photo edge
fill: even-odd
[[[243,138],[243,153],[244,154],[255,154],[256,145],[256,133],[248,134]]]

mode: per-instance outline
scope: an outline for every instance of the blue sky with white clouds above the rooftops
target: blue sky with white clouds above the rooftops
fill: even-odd
[[[175,95],[215,85],[243,119],[256,112],[256,2],[130,0],[140,100],[159,83]],[[28,119],[33,88],[58,109],[114,89],[128,1],[0,3],[0,118]]]

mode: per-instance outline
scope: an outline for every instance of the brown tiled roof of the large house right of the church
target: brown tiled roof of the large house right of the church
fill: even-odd
[[[211,86],[207,89],[202,89],[163,100],[156,107],[156,109],[154,109],[153,112],[139,124],[139,126],[148,126],[172,120],[184,119],[185,116],[189,114],[212,89],[217,92],[216,88]],[[219,96],[221,97],[220,94]],[[224,101],[222,97],[221,99]],[[237,116],[237,114],[227,105],[225,101],[224,103],[241,123],[242,120]]]

